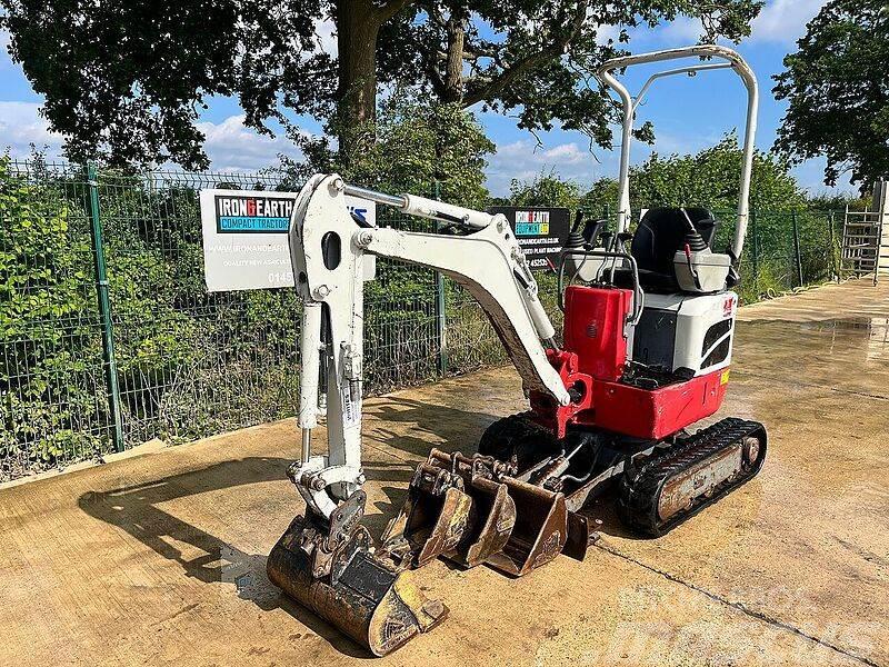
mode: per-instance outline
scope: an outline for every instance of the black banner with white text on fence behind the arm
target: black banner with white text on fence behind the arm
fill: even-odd
[[[506,216],[532,271],[557,269],[571,227],[567,208],[497,206],[488,212]]]

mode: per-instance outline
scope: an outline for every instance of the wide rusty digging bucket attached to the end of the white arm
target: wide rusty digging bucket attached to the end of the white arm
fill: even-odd
[[[288,596],[344,633],[374,656],[384,656],[426,633],[448,615],[411,579],[369,551],[364,529],[333,554],[329,575],[312,576],[312,557],[302,548],[298,517],[274,545],[266,566],[269,579]]]

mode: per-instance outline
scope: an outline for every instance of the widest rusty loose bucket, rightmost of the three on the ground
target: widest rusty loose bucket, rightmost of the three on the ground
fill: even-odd
[[[487,563],[520,577],[558,556],[568,539],[565,495],[512,478],[503,484],[516,505],[516,526],[503,548]]]

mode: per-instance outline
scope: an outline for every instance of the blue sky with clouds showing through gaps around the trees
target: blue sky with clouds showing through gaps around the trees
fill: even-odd
[[[760,84],[760,122],[757,145],[768,149],[783,115],[785,104],[771,94],[771,76],[781,71],[781,60],[793,50],[796,40],[805,32],[806,23],[818,13],[826,0],[768,0],[752,26],[752,34],[738,49],[757,73]],[[330,28],[321,27],[322,41],[332,44]],[[637,30],[630,49],[635,52],[672,48],[693,43],[700,27],[695,21],[679,19],[655,30]],[[0,33],[0,149],[9,147],[13,156],[27,156],[31,143],[47,147],[50,156],[60,153],[60,138],[48,131],[40,118],[41,99],[30,88],[21,69],[7,52],[8,36]],[[655,68],[657,66],[653,66]],[[653,69],[638,68],[627,77],[631,91]],[[647,97],[639,122],[651,120],[658,136],[655,150],[693,152],[717,142],[728,130],[741,127],[745,115],[745,91],[740,80],[730,71],[703,72],[696,79],[676,77],[659,81]],[[540,135],[543,146],[528,132],[518,130],[515,120],[495,113],[479,113],[489,137],[498,147],[488,167],[488,187],[503,195],[512,178],[529,179],[542,169],[555,169],[565,178],[589,185],[602,176],[615,176],[617,155],[601,149],[589,150],[582,135],[555,129]],[[258,137],[241,123],[237,102],[213,99],[201,117],[207,136],[207,151],[212,168],[219,171],[253,170],[276,162],[279,152],[293,155],[284,139]],[[635,145],[633,162],[643,160],[651,148]],[[811,160],[795,170],[800,183],[813,192],[825,191],[822,163]],[[840,186],[840,190],[851,188]]]

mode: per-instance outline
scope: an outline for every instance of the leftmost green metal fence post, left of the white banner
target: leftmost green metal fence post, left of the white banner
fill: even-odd
[[[108,405],[111,412],[112,440],[116,451],[123,451],[123,421],[120,414],[120,387],[114,359],[114,332],[111,323],[111,300],[108,296],[108,273],[104,265],[104,241],[102,220],[99,215],[99,181],[93,162],[87,163],[87,187],[90,195],[90,218],[92,220],[92,258],[96,269],[96,296],[99,302],[99,317],[102,325],[102,366],[104,368]]]

